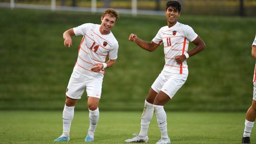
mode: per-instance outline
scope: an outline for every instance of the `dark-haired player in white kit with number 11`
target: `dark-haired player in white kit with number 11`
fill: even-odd
[[[166,3],[165,15],[167,26],[159,29],[152,42],[146,42],[137,35],[131,34],[129,41],[135,42],[147,51],[154,51],[163,43],[165,65],[158,78],[152,84],[145,100],[145,107],[141,117],[141,129],[138,136],[125,140],[126,143],[147,142],[147,129],[155,110],[161,139],[157,144],[170,144],[167,134],[167,121],[164,105],[175,95],[185,83],[188,76],[186,59],[205,49],[205,43],[185,24],[177,22],[181,14],[181,5],[178,1],[171,0]],[[195,48],[188,50],[189,42],[195,44]]]

